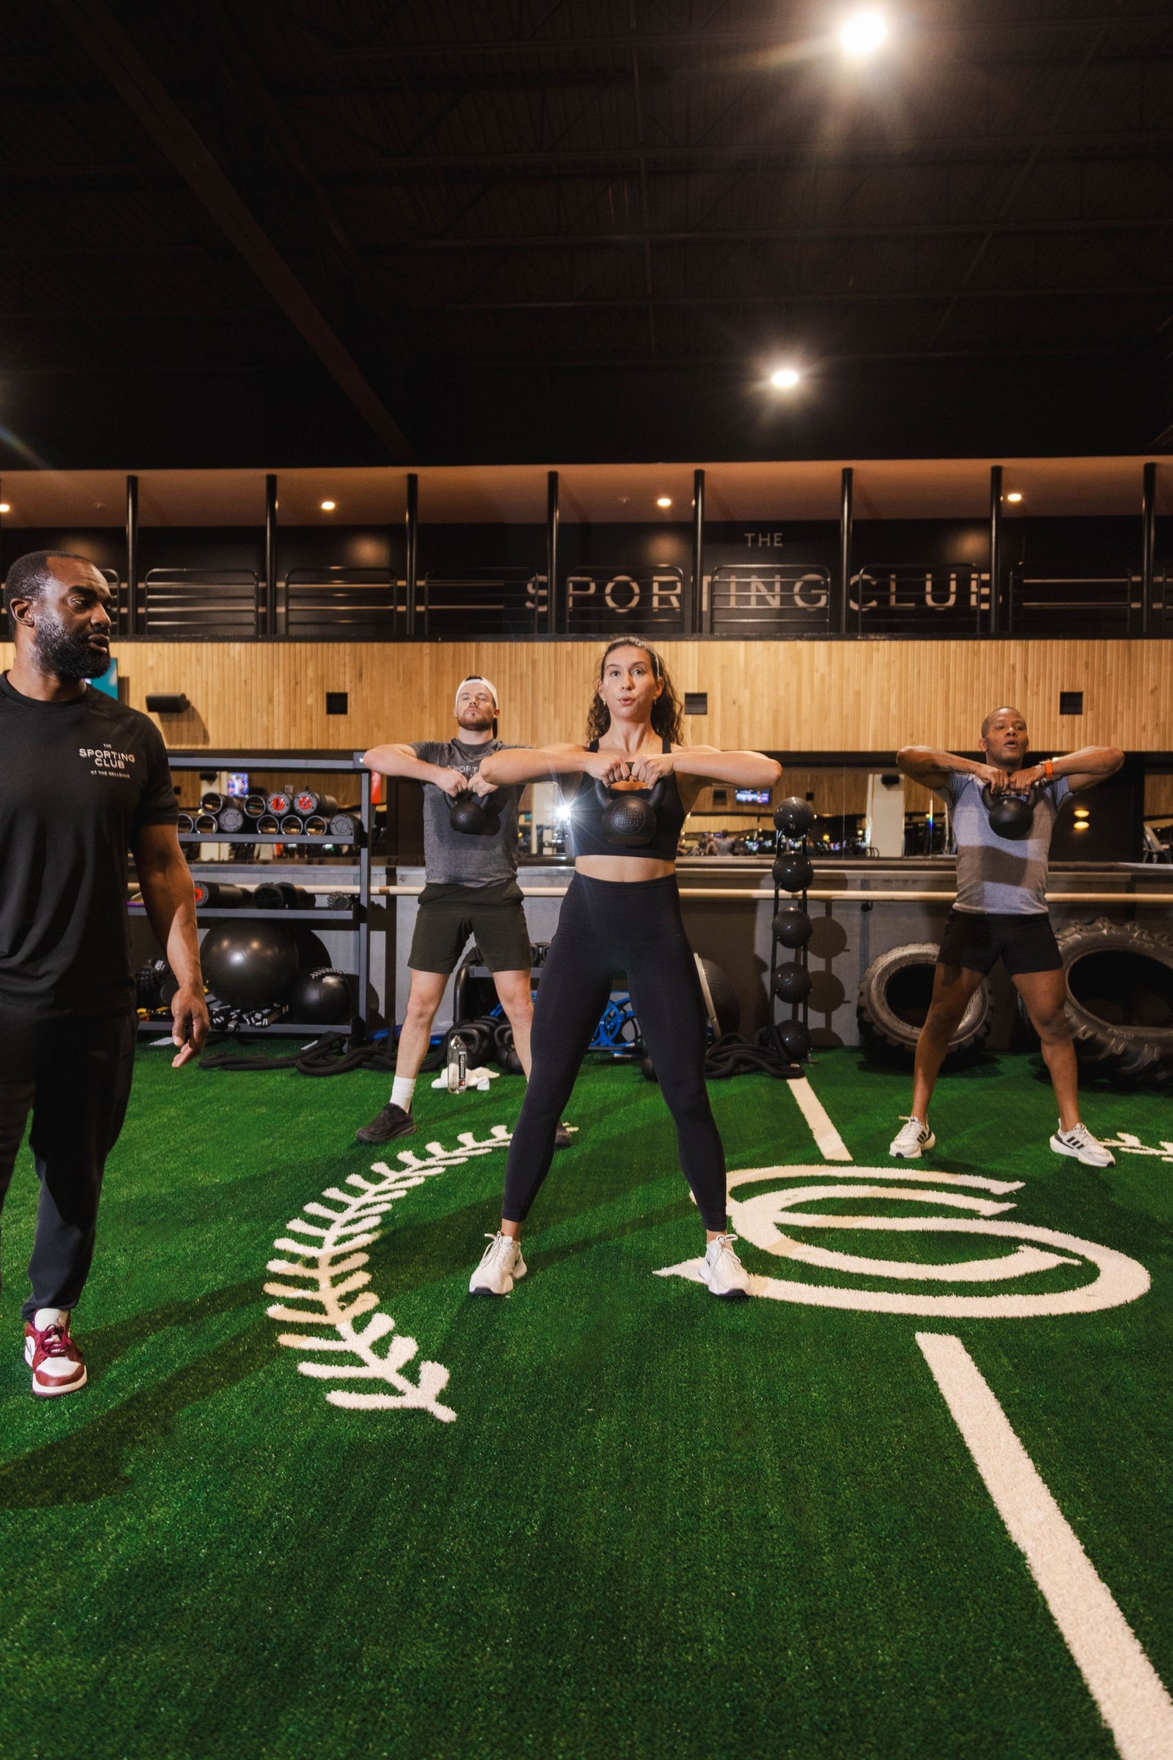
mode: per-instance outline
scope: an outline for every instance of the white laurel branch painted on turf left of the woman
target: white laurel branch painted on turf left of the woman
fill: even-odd
[[[301,1216],[287,1223],[288,1234],[278,1236],[273,1243],[283,1253],[295,1258],[271,1258],[267,1271],[280,1278],[299,1278],[299,1283],[266,1283],[266,1295],[280,1295],[267,1313],[271,1320],[294,1322],[302,1327],[324,1325],[332,1329],[331,1338],[317,1332],[280,1332],[278,1345],[290,1350],[324,1352],[324,1360],[310,1355],[297,1368],[302,1375],[317,1376],[324,1382],[385,1382],[394,1392],[355,1392],[332,1387],[327,1401],[332,1406],[352,1408],[417,1408],[431,1412],[441,1424],[452,1424],[455,1412],[440,1401],[440,1394],[448,1385],[448,1371],[441,1362],[420,1362],[417,1378],[401,1371],[415,1357],[419,1345],[413,1338],[396,1332],[396,1322],[378,1309],[378,1295],[368,1290],[371,1281],[366,1246],[373,1246],[380,1237],[378,1223],[387,1214],[396,1199],[413,1186],[422,1186],[434,1174],[447,1172],[448,1167],[461,1167],[464,1162],[494,1149],[506,1149],[510,1133],[505,1125],[494,1125],[485,1140],[477,1140],[471,1130],[457,1135],[459,1149],[445,1149],[441,1142],[429,1142],[427,1158],[403,1149],[396,1160],[399,1167],[387,1162],[375,1162],[373,1174],[380,1179],[366,1179],[362,1174],[350,1174],[346,1184],[327,1186],[322,1193],[329,1204],[311,1202],[304,1206]],[[306,1218],[320,1218],[318,1221]],[[294,1239],[297,1236],[297,1239]],[[355,1294],[359,1292],[359,1294]],[[290,1308],[288,1302],[302,1306]],[[371,1315],[362,1331],[355,1331],[355,1320]],[[390,1341],[382,1352],[375,1346],[390,1334]],[[338,1357],[353,1357],[355,1362],[339,1362]]]

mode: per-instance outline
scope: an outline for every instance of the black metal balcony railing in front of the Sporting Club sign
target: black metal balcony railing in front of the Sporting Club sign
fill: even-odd
[[[422,572],[413,605],[389,567],[302,565],[274,583],[269,604],[253,568],[151,568],[130,593],[113,568],[120,637],[151,641],[461,641],[616,634],[624,627],[682,637],[786,641],[848,634],[906,637],[1173,637],[1173,568],[1154,570],[1148,605],[1141,576],[1034,574],[1002,579],[994,618],[990,577],[978,563],[869,563],[842,586],[821,563],[719,563],[700,607],[679,567],[594,567],[547,577],[521,565]],[[410,614],[413,612],[413,614]],[[693,616],[698,612],[698,623]],[[11,639],[0,614],[0,639]]]

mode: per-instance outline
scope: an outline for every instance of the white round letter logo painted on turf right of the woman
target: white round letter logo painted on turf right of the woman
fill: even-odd
[[[735,1190],[772,1181],[776,1190],[735,1197]],[[786,1184],[781,1184],[786,1181]],[[1094,1241],[1055,1228],[1034,1228],[1001,1220],[1015,1204],[995,1202],[1020,1192],[1022,1181],[985,1179],[978,1174],[911,1172],[888,1167],[747,1167],[728,1176],[730,1221],[733,1232],[776,1258],[797,1265],[839,1271],[849,1278],[885,1278],[922,1285],[913,1290],[876,1290],[827,1283],[802,1283],[791,1278],[751,1276],[753,1295],[777,1302],[802,1302],[814,1308],[855,1308],[867,1313],[929,1315],[939,1318],[1027,1320],[1034,1315],[1090,1313],[1136,1301],[1148,1288],[1148,1272],[1134,1258]],[[973,1190],[967,1190],[973,1188]],[[976,1193],[990,1193],[980,1197]],[[860,1216],[853,1211],[805,1206],[842,1200],[883,1199],[888,1204],[941,1204],[946,1216]],[[784,1227],[783,1227],[784,1225]],[[1013,1248],[999,1257],[958,1258],[951,1264],[872,1258],[839,1253],[807,1243],[807,1230],[860,1230],[883,1234],[981,1236]],[[795,1234],[797,1230],[797,1234]],[[1025,1243],[1025,1244],[1024,1244]],[[863,1243],[860,1243],[863,1244]],[[960,1243],[958,1243],[960,1244]],[[658,1276],[703,1281],[702,1260],[667,1265]],[[1071,1287],[1073,1267],[1094,1271],[1090,1280]],[[1008,1283],[1015,1278],[1059,1272],[1060,1287],[1043,1292],[999,1290],[992,1295],[936,1294],[929,1283]]]

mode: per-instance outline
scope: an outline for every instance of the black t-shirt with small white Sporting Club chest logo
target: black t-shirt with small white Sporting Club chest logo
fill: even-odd
[[[0,1010],[134,1008],[127,850],[174,825],[155,723],[100,690],[23,697],[0,676]]]

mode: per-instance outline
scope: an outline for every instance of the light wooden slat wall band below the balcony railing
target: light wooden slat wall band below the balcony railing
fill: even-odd
[[[1020,708],[1038,748],[1113,743],[1173,750],[1173,642],[667,642],[677,688],[709,692],[689,736],[719,746],[883,752],[906,741],[971,750],[987,709]],[[11,649],[0,649],[7,665]],[[186,692],[160,722],[172,746],[362,748],[443,736],[457,681],[487,672],[501,734],[580,739],[598,649],[584,642],[134,642],[118,653],[128,700]],[[345,690],[350,713],[325,715]],[[1085,713],[1059,716],[1059,692]]]

